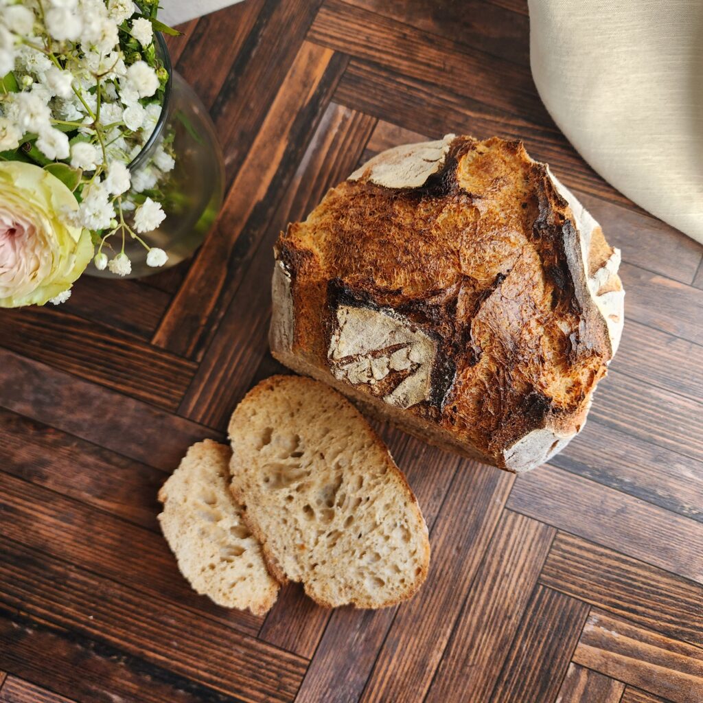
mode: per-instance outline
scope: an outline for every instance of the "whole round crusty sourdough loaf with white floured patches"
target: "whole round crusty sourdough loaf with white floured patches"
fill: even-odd
[[[276,245],[273,356],[421,439],[515,472],[586,422],[620,254],[520,142],[370,160]]]

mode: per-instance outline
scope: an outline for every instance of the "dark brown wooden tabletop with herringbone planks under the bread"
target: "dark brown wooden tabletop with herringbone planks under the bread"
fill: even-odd
[[[247,0],[184,30],[174,62],[226,155],[219,225],[172,271],[0,313],[0,701],[703,701],[702,247],[550,121],[524,0]],[[155,496],[280,370],[273,240],[370,154],[448,131],[523,138],[622,248],[588,425],[520,479],[382,427],[430,525],[419,595],[222,610],[179,576]]]

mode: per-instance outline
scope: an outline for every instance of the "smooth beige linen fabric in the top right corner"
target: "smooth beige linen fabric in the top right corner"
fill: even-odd
[[[532,74],[583,158],[703,243],[703,0],[529,0]]]

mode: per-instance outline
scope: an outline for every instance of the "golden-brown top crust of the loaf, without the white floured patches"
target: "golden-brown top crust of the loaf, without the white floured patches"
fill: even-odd
[[[296,354],[328,365],[340,305],[406,318],[438,347],[432,392],[409,410],[498,461],[531,430],[583,423],[613,353],[587,278],[614,250],[598,227],[583,239],[521,142],[447,143],[422,186],[378,185],[366,169],[276,248],[292,278]],[[617,276],[607,285],[619,290]],[[355,385],[387,396],[410,373]]]

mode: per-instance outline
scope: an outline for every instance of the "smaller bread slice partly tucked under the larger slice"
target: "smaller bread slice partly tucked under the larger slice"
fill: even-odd
[[[159,491],[161,529],[183,576],[217,605],[263,615],[276,602],[278,583],[229,491],[228,446],[193,444]]]

